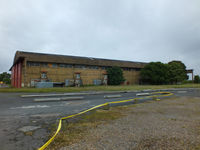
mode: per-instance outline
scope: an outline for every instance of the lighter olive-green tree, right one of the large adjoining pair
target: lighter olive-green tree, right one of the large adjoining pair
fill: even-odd
[[[177,84],[188,79],[186,66],[181,61],[171,61],[168,63],[169,80],[171,84]]]

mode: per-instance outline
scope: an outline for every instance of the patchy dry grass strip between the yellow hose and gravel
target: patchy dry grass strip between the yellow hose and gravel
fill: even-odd
[[[122,110],[124,110],[122,112]],[[76,122],[62,124],[62,130],[56,136],[55,140],[47,147],[48,150],[57,150],[60,147],[68,146],[81,140],[89,129],[96,128],[100,124],[108,123],[111,120],[118,119],[125,115],[128,107],[119,106],[108,110],[98,109],[87,115],[80,117]],[[57,124],[52,127],[50,137],[54,134]],[[49,138],[50,138],[49,137]]]

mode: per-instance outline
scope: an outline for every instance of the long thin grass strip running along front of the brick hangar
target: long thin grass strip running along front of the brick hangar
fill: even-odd
[[[65,87],[65,88],[0,88],[0,92],[20,92],[20,93],[49,93],[49,92],[81,92],[81,91],[124,91],[124,90],[144,90],[144,89],[165,89],[165,88],[200,88],[200,84],[182,85],[129,85],[129,86],[85,86],[85,87]]]

